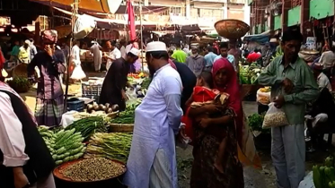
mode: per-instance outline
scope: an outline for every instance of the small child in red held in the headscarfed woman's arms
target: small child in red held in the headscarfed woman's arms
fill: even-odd
[[[217,117],[227,115],[227,113],[229,113],[226,108],[226,103],[229,98],[229,94],[224,92],[220,93],[219,90],[212,90],[212,84],[213,84],[212,73],[209,72],[200,73],[197,79],[197,85],[193,89],[193,93],[190,99],[188,100],[187,104],[190,105],[191,108],[202,107],[207,104],[216,104],[219,106],[223,106],[223,108],[215,116],[213,115],[209,116],[207,113],[198,115],[198,117],[195,119],[195,122],[197,124],[199,124],[201,119],[203,118]],[[222,130],[223,132],[220,132],[219,136],[220,138],[224,137],[224,139],[220,143],[214,166],[218,171],[224,173],[225,148],[228,135],[226,128],[222,128]]]

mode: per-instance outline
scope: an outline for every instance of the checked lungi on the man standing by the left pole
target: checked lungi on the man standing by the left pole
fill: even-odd
[[[36,98],[35,117],[39,125],[59,125],[64,113],[64,96],[55,99]]]

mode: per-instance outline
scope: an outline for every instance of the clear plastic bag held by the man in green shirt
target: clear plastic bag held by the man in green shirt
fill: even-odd
[[[271,128],[278,126],[288,125],[287,115],[282,109],[275,107],[275,104],[271,102],[269,104],[269,110],[264,116],[262,128]]]

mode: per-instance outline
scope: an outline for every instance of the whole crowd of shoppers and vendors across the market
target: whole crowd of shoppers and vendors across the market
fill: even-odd
[[[57,47],[55,30],[43,31],[41,39],[42,49],[28,60],[28,75],[38,82],[35,115],[14,90],[0,81],[0,175],[5,177],[1,178],[0,187],[56,187],[51,174],[54,162],[36,125],[60,123],[64,93],[59,76],[66,72],[66,56],[71,64],[80,66],[79,46],[74,41],[71,52],[67,49],[66,54],[64,46]],[[332,104],[318,99],[329,97],[327,93],[331,90],[327,75],[322,74],[322,65],[329,63],[324,59],[328,58],[324,55],[320,60],[324,64],[314,64],[312,72],[309,64],[298,56],[302,42],[299,31],[285,31],[280,44],[284,56],[275,57],[257,79],[258,84],[271,86],[275,106],[287,115],[287,126],[273,127],[271,132],[271,158],[280,188],[297,188],[304,179],[306,105],[317,103],[313,107],[321,111],[313,112],[311,119],[319,115],[318,121],[324,115],[332,120],[330,113],[335,109],[332,98]],[[14,53],[21,63],[25,63],[27,56],[31,58],[28,53],[31,44],[27,41],[22,47],[16,47],[18,52]],[[118,104],[122,111],[128,100],[126,88],[132,87],[128,84],[128,73],[131,69],[137,71],[134,64],[141,52],[134,41],[128,46],[122,41],[119,48],[115,42],[107,41],[106,47],[109,51],[103,53],[96,41],[91,47],[95,71],[100,71],[101,58],[108,59],[100,103]],[[190,187],[242,188],[243,167],[261,168],[242,108],[238,81],[242,51],[236,49],[235,41],[207,47],[205,56],[198,54],[198,46],[185,51],[179,44],[172,51],[160,41],[145,47],[151,83],[135,110],[124,184],[131,188],[178,187],[175,146],[191,136],[194,161]],[[220,54],[217,56],[215,51]],[[4,64],[1,65],[2,69]],[[40,70],[40,78],[33,76],[35,67]],[[216,95],[224,96],[225,100],[216,101]],[[206,103],[206,100],[215,102]],[[200,106],[192,107],[199,102]],[[190,121],[181,124],[182,117]],[[185,133],[188,127],[192,135]]]

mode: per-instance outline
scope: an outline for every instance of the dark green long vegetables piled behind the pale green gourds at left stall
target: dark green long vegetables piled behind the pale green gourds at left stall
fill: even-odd
[[[84,137],[84,141],[87,141],[95,132],[108,132],[101,116],[86,117],[66,127],[66,130],[72,129],[75,129],[75,133],[80,132]]]

